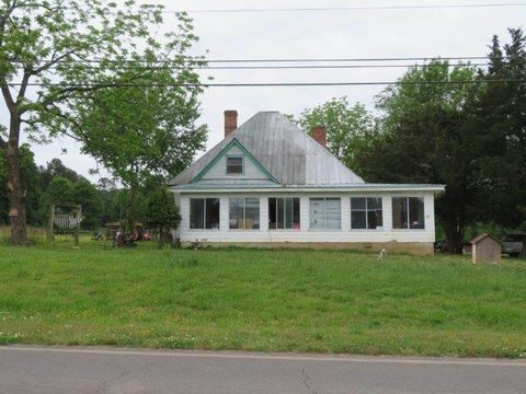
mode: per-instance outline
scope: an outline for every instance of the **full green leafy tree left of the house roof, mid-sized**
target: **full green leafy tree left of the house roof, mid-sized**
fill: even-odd
[[[181,67],[184,67],[183,65]],[[197,126],[201,115],[198,95],[193,85],[198,76],[173,69],[129,71],[124,80],[137,86],[93,92],[77,108],[75,130],[84,153],[91,154],[129,190],[127,229],[137,220],[137,192],[151,176],[173,176],[187,166],[197,150],[204,148],[207,127]]]

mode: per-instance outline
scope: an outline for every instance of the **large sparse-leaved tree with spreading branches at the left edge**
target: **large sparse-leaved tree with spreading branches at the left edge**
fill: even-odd
[[[7,163],[13,244],[27,243],[22,130],[35,141],[68,135],[76,104],[85,100],[84,94],[114,89],[115,77],[134,67],[128,59],[150,54],[155,60],[170,61],[155,57],[160,43],[149,28],[162,23],[161,10],[137,7],[134,0],[123,7],[106,0],[1,1],[0,89],[9,125],[0,127],[0,149]],[[195,38],[190,21],[179,13],[176,19],[179,28],[161,39],[171,39],[173,46],[182,38],[186,45],[188,37]]]

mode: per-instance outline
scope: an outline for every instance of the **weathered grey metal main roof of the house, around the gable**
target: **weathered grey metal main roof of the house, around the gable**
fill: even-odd
[[[278,112],[260,112],[169,182],[185,185],[236,138],[282,186],[364,184],[328,149]]]

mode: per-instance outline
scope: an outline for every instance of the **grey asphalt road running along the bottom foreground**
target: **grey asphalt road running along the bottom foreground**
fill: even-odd
[[[0,347],[0,393],[526,393],[526,361]]]

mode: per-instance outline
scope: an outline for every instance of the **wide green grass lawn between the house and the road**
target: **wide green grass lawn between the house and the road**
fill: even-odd
[[[526,357],[526,262],[0,246],[0,344]]]

